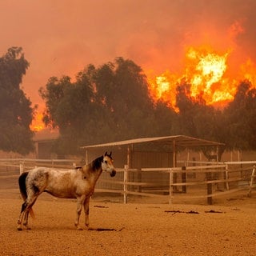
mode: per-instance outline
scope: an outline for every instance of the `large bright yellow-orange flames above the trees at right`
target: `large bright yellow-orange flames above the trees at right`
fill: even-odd
[[[147,72],[152,98],[155,101],[161,99],[175,109],[176,86],[185,80],[190,84],[190,96],[196,98],[201,95],[207,105],[221,105],[232,101],[239,81],[248,79],[252,83],[256,82],[256,66],[249,59],[241,66],[241,74],[237,78],[227,77],[229,55],[230,50],[219,54],[209,47],[189,47],[186,50],[183,74],[171,74],[166,70],[160,75],[152,76],[152,71]]]

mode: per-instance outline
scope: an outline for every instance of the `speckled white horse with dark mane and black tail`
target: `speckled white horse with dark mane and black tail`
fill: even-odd
[[[29,213],[33,217],[32,206],[42,192],[47,192],[58,198],[77,198],[77,215],[74,222],[77,230],[82,206],[85,210],[85,227],[89,228],[89,203],[94,193],[94,187],[102,171],[110,173],[114,177],[116,171],[110,154],[96,158],[89,164],[72,170],[54,170],[46,167],[38,167],[20,175],[18,184],[24,202],[21,214],[18,218],[18,230],[30,229],[28,226]],[[22,223],[23,222],[23,223]]]

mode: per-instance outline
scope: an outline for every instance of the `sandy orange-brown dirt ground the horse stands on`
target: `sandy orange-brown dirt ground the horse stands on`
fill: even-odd
[[[214,206],[96,197],[90,230],[82,231],[74,227],[74,200],[42,194],[32,229],[18,231],[22,199],[13,182],[0,178],[1,255],[255,255],[256,191]]]

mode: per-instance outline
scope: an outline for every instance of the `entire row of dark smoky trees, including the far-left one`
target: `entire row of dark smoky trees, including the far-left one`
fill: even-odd
[[[5,138],[0,147],[22,154],[33,149],[29,125],[34,109],[19,89],[28,66],[21,48],[11,48],[0,58],[1,97],[3,90],[4,99],[15,105],[0,102],[0,118],[6,125],[0,127]],[[79,146],[95,143],[172,134],[224,142],[228,149],[256,150],[256,95],[248,81],[240,83],[234,101],[224,110],[207,106],[200,97],[191,98],[190,84],[183,81],[176,89],[177,113],[165,102],[152,101],[139,66],[116,58],[98,68],[86,66],[75,82],[67,76],[52,77],[39,94],[46,102],[43,121],[59,129],[54,147],[58,154],[78,154]]]

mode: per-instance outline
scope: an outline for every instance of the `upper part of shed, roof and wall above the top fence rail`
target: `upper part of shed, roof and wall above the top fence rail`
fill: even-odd
[[[105,151],[114,152],[115,166],[122,168],[142,167],[175,167],[177,166],[178,151],[186,148],[200,150],[210,146],[218,156],[220,146],[223,143],[208,141],[202,138],[194,138],[185,135],[134,138],[119,142],[109,142],[91,146],[82,146],[85,150],[86,162],[93,160]],[[216,159],[218,161],[218,159]]]

